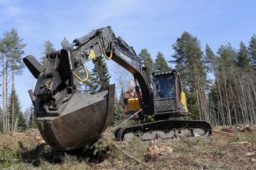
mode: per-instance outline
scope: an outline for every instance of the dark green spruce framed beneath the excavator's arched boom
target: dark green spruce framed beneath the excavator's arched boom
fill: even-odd
[[[95,84],[95,89],[93,93],[105,91],[110,85],[110,73],[107,69],[107,64],[104,57],[97,57],[95,60],[92,60],[95,64],[94,69],[92,69],[93,82]]]

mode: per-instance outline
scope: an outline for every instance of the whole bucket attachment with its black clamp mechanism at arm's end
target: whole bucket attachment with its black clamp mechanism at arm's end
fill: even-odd
[[[46,68],[33,56],[23,59],[36,88],[29,91],[37,115],[38,129],[48,145],[72,150],[96,140],[110,123],[114,106],[114,84],[98,94],[78,93],[73,82],[70,48],[46,55]]]

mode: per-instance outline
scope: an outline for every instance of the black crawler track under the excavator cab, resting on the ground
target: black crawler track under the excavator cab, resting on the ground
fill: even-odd
[[[136,135],[142,140],[169,139],[178,137],[199,137],[212,134],[212,127],[206,121],[159,120],[153,123],[119,128],[115,131],[117,141],[130,141]]]

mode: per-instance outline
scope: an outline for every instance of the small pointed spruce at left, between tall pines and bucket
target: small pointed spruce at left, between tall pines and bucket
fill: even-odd
[[[18,130],[25,130],[26,128],[26,122],[23,118],[23,113],[21,111],[21,102],[18,99],[18,95],[16,94],[16,90],[12,90],[11,94],[8,98],[8,111],[11,112],[12,108],[14,108],[14,118],[12,118],[12,115],[10,115],[11,119],[14,119],[15,122],[18,123]]]

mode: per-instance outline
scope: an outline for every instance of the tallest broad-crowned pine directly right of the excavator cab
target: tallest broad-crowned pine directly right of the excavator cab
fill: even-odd
[[[183,88],[188,88],[188,108],[193,118],[205,120],[206,107],[206,66],[203,64],[203,52],[200,41],[188,32],[183,32],[173,45],[175,54],[172,55],[176,69],[181,73]]]

